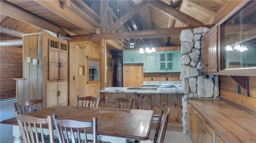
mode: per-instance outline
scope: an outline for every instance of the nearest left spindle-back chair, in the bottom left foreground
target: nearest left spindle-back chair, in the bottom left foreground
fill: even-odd
[[[55,143],[51,116],[37,118],[26,114],[18,114],[17,111],[15,111],[15,116],[24,143]],[[43,126],[46,125],[48,125],[49,135],[44,135]],[[40,129],[39,133],[38,129]]]

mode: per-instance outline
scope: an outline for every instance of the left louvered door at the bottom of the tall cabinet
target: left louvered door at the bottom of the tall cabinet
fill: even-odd
[[[58,105],[58,82],[46,83],[46,108]]]

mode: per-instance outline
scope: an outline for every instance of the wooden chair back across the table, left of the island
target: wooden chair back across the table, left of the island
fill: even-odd
[[[100,98],[101,96],[93,97],[93,96],[86,96],[86,97],[79,97],[76,98],[76,106],[90,106],[90,107],[99,107],[100,105]],[[79,102],[81,104],[79,104]]]

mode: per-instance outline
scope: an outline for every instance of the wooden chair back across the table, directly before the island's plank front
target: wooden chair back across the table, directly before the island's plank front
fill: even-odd
[[[125,109],[132,109],[132,100],[133,97],[124,98],[108,98],[106,97],[106,108],[125,108]]]

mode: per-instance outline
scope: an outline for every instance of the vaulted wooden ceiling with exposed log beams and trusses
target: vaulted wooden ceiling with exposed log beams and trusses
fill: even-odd
[[[107,49],[120,53],[128,38],[154,47],[180,45],[183,27],[216,24],[226,0],[1,0],[1,43],[21,34],[45,31],[69,41],[107,39]],[[112,35],[111,35],[112,33]],[[81,36],[83,35],[83,36]],[[6,41],[8,42],[8,41]],[[13,43],[15,41],[12,41]],[[14,45],[15,46],[15,45]],[[22,47],[16,44],[16,47]]]

